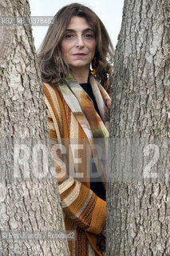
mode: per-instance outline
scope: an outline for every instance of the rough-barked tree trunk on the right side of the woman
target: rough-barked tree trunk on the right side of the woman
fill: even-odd
[[[170,2],[125,0],[110,124],[107,255],[170,255]]]

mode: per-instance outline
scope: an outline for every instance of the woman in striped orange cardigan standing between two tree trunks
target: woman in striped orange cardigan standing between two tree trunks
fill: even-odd
[[[38,58],[65,229],[77,232],[76,241],[68,241],[70,254],[102,255],[105,187],[99,175],[94,182],[92,172],[105,173],[103,159],[97,155],[97,146],[103,142],[96,145],[94,140],[109,136],[105,123],[109,121],[113,46],[97,15],[73,3],[54,16]]]

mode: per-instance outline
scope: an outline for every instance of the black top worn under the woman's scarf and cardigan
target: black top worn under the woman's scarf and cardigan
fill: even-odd
[[[99,109],[98,109],[98,106],[97,106],[97,102],[96,102],[96,99],[94,98],[94,95],[93,95],[93,90],[92,90],[92,87],[90,86],[89,82],[87,83],[81,83],[80,84],[81,87],[83,88],[83,90],[85,90],[85,92],[87,94],[89,94],[89,97],[93,100],[93,104],[94,104],[94,107],[95,107],[95,110],[97,110],[97,114],[100,114],[99,112]],[[96,165],[93,161],[93,156],[91,155],[91,162],[90,162],[90,173],[94,174],[94,173],[97,173],[97,168],[96,168]],[[93,192],[95,194],[97,194],[97,196],[103,200],[105,200],[105,188],[103,186],[103,182],[101,182],[101,178],[95,178],[95,181],[94,181],[94,178],[90,178],[90,188],[91,190],[93,190]]]

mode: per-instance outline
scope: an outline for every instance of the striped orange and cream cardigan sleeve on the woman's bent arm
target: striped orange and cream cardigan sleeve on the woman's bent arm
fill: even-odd
[[[56,141],[61,141],[61,127],[57,122],[53,123],[48,108],[47,114],[49,137],[63,212],[67,218],[70,218],[74,224],[82,229],[93,234],[100,234],[106,222],[106,202],[97,197],[84,182],[68,176],[68,172],[65,170],[68,166],[66,167],[64,164],[66,159],[55,146]]]

